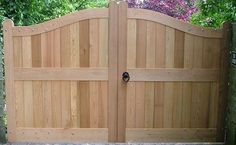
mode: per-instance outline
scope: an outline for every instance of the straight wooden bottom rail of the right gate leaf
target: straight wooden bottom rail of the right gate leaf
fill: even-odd
[[[215,128],[126,129],[127,142],[215,142]]]

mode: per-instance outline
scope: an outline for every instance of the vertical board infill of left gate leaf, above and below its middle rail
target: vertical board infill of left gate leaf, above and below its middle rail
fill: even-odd
[[[38,73],[37,80],[15,81],[17,127],[107,128],[108,77],[86,81],[62,77],[67,68],[67,72],[82,69],[84,74],[89,68],[107,69],[108,19],[85,19],[45,33],[17,36],[13,43],[19,73],[31,68],[61,71],[61,80],[43,79]]]

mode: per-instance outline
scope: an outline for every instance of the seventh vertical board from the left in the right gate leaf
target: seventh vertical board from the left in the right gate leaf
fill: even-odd
[[[193,66],[193,48],[194,36],[185,34],[184,38],[184,68],[191,69]],[[182,125],[181,127],[190,127],[191,124],[191,100],[192,100],[192,83],[183,83],[183,103],[182,103]]]

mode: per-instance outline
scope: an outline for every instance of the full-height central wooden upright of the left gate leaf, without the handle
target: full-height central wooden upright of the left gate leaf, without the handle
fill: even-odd
[[[118,6],[109,4],[109,50],[108,50],[108,141],[117,141],[117,67],[118,67]]]

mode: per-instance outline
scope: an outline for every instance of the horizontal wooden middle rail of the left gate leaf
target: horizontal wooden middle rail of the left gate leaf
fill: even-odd
[[[15,80],[108,80],[106,68],[15,68]]]

